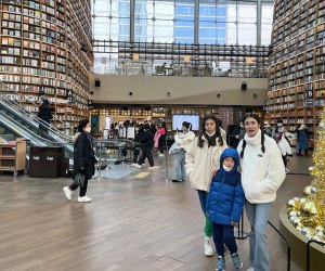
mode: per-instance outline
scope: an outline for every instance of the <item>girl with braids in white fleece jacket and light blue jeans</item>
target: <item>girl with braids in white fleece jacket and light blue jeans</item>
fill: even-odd
[[[246,133],[237,152],[247,199],[245,209],[251,228],[249,270],[269,271],[266,225],[271,204],[286,177],[285,167],[276,142],[261,131],[259,116],[249,114],[243,121]]]

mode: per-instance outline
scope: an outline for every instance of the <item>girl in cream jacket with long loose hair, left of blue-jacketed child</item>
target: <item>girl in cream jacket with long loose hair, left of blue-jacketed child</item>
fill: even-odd
[[[196,137],[185,154],[185,170],[191,186],[198,193],[202,210],[206,217],[206,199],[210,189],[212,175],[220,168],[220,155],[226,149],[222,138],[218,119],[214,116],[206,116],[202,131]],[[212,224],[206,218],[205,224],[205,255],[213,256]]]

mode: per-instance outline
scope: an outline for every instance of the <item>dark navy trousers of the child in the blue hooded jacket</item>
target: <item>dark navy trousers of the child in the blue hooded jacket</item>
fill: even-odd
[[[213,223],[213,242],[218,256],[224,257],[224,245],[230,250],[231,255],[237,253],[237,244],[234,235],[234,228],[230,224]]]

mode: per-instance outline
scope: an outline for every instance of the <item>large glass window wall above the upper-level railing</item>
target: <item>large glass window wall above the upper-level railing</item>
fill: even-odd
[[[130,1],[134,1],[134,37],[130,37]],[[198,2],[198,9],[195,9],[195,2]],[[255,46],[258,42],[257,2],[258,0],[92,0],[93,38]],[[261,44],[269,46],[273,1],[261,2]],[[195,31],[198,34],[196,41]]]

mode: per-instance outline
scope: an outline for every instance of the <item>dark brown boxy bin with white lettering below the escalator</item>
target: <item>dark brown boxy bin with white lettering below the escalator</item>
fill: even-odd
[[[60,162],[63,158],[64,150],[62,146],[31,146],[29,176],[41,178],[60,177]]]

